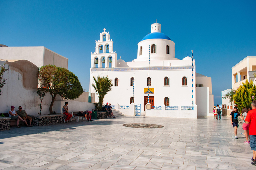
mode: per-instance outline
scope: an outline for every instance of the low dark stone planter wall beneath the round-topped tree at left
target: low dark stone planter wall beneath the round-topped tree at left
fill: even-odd
[[[56,114],[56,115],[40,115],[40,116],[32,116],[32,125],[34,126],[45,126],[45,125],[55,125],[55,124],[64,124],[64,120],[66,119],[66,115]]]

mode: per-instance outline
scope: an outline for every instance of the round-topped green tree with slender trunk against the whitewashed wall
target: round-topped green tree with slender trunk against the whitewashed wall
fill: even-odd
[[[41,87],[47,88],[51,94],[50,113],[53,113],[52,106],[58,95],[64,99],[76,99],[83,93],[83,87],[77,76],[66,68],[55,65],[45,65],[39,68],[38,80]]]

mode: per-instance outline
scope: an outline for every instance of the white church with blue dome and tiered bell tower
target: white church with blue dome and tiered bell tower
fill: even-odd
[[[112,91],[103,103],[125,115],[138,115],[140,106],[141,113],[152,117],[213,116],[211,78],[196,73],[192,57],[175,57],[175,43],[161,33],[159,23],[151,25],[151,33],[138,43],[137,58],[130,62],[117,58],[104,29],[91,53],[90,92],[95,92],[93,76],[112,79]]]

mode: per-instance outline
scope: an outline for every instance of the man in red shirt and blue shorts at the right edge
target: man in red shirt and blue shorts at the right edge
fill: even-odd
[[[253,152],[252,164],[256,166],[256,100],[252,101],[252,110],[247,113],[245,123],[249,124],[250,147]]]

